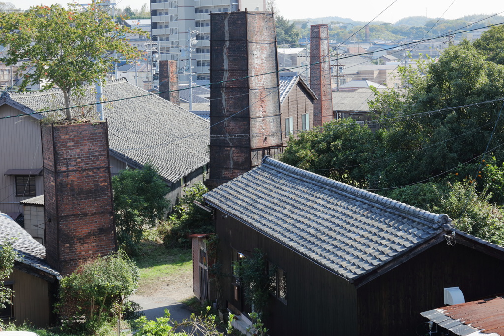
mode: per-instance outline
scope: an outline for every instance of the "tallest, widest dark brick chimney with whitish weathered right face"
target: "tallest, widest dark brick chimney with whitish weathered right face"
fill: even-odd
[[[216,84],[210,87],[207,185],[213,188],[276,154],[282,137],[273,14],[212,13],[210,18],[210,83]],[[268,75],[254,77],[260,74]]]

